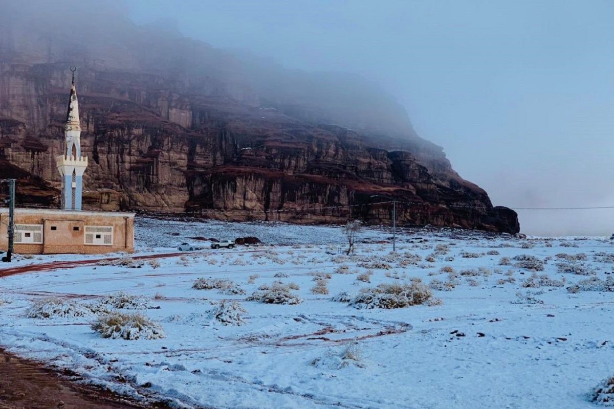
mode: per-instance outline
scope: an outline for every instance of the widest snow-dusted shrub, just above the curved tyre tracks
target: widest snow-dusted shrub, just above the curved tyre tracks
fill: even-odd
[[[432,296],[430,289],[421,283],[380,284],[360,291],[350,305],[356,308],[403,308],[425,304]]]

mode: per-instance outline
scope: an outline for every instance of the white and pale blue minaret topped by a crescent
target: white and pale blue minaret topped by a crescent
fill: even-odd
[[[62,177],[62,204],[64,210],[81,210],[81,193],[83,174],[87,167],[87,156],[81,156],[81,125],[79,123],[79,104],[75,88],[76,67],[71,67],[71,97],[68,102],[68,114],[64,126],[66,151],[56,156],[55,164]]]

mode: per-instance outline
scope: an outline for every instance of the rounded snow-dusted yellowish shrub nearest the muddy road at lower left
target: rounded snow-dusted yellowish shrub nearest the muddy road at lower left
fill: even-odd
[[[112,312],[98,318],[91,324],[91,329],[103,335],[103,338],[153,340],[165,337],[160,324],[138,313]]]

